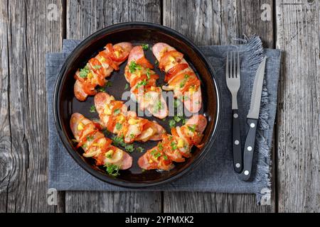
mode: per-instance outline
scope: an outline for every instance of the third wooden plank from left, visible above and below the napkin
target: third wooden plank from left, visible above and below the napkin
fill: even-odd
[[[268,1],[164,1],[164,25],[176,29],[197,45],[226,45],[233,38],[257,33],[273,48],[271,21],[262,21],[262,4]],[[272,12],[270,12],[272,13]],[[254,21],[254,23],[252,22]],[[164,192],[165,212],[273,212],[272,206],[257,206],[254,195]]]

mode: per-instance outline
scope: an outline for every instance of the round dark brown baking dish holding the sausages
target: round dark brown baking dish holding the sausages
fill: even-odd
[[[148,43],[149,46],[154,43],[164,42],[176,48],[182,52],[187,62],[193,67],[198,77],[201,79],[201,90],[203,96],[203,108],[201,114],[204,114],[208,119],[208,126],[204,131],[203,148],[193,148],[193,155],[191,158],[186,159],[186,162],[176,163],[176,167],[169,172],[159,172],[156,170],[142,171],[137,165],[138,158],[143,154],[135,151],[132,153],[134,158],[132,168],[129,170],[121,170],[120,175],[117,178],[107,175],[102,167],[96,167],[93,159],[85,158],[82,156],[82,149],[76,149],[73,145],[73,134],[70,131],[69,121],[71,114],[79,112],[87,118],[98,118],[96,113],[90,113],[90,106],[93,104],[93,97],[89,97],[87,101],[80,102],[75,99],[73,94],[73,84],[75,79],[73,75],[75,71],[83,67],[87,60],[97,55],[97,52],[102,50],[107,43],[119,43],[119,42],[131,42],[134,45],[142,43]],[[151,51],[146,51],[146,57],[151,61],[155,61],[155,57]],[[126,81],[124,79],[124,66],[127,62],[124,62],[120,70],[112,72],[111,77],[108,80],[112,82],[111,87],[107,87],[106,90],[109,94],[112,94],[116,99],[121,100],[122,92]],[[160,75],[159,85],[164,84],[164,73],[156,72]],[[160,26],[154,23],[119,23],[107,28],[103,28],[96,33],[93,33],[88,38],[83,40],[73,52],[68,56],[63,67],[58,75],[57,82],[55,84],[55,94],[53,101],[53,110],[55,116],[55,125],[60,135],[65,148],[68,153],[74,158],[74,160],[83,169],[90,173],[90,175],[101,179],[102,181],[116,184],[121,187],[151,187],[165,182],[169,182],[173,179],[181,177],[186,172],[196,167],[203,157],[208,152],[214,152],[210,150],[215,140],[218,125],[220,121],[220,92],[215,74],[210,64],[206,60],[203,53],[191,43],[188,38],[184,37],[180,33]],[[151,120],[155,120],[160,123],[167,132],[170,132],[168,118],[166,121],[161,121],[157,118],[149,117]],[[145,150],[154,147],[157,142],[136,143],[135,147],[143,147]]]

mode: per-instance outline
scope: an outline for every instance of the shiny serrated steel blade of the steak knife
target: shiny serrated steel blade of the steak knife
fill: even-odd
[[[262,84],[263,77],[265,75],[265,61],[267,57],[264,57],[262,62],[257,69],[255,74],[255,82],[253,82],[250,110],[247,114],[247,118],[257,119],[259,118],[260,103],[261,103],[261,93],[262,93]]]

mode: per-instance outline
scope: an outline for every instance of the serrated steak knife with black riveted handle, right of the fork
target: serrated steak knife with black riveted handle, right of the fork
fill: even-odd
[[[255,82],[253,83],[250,110],[247,114],[247,125],[249,130],[247,131],[247,138],[245,139],[245,148],[243,151],[243,170],[241,173],[241,179],[247,181],[251,176],[252,169],[252,157],[255,150],[255,133],[257,131],[257,121],[259,118],[261,94],[263,77],[265,75],[265,61],[267,57],[264,57],[255,74]]]

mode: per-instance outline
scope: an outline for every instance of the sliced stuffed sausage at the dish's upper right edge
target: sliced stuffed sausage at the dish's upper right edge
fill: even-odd
[[[159,61],[159,69],[166,72],[166,91],[174,91],[174,96],[183,100],[191,113],[198,113],[202,105],[200,80],[193,72],[183,54],[166,43],[156,43],[152,52]]]

